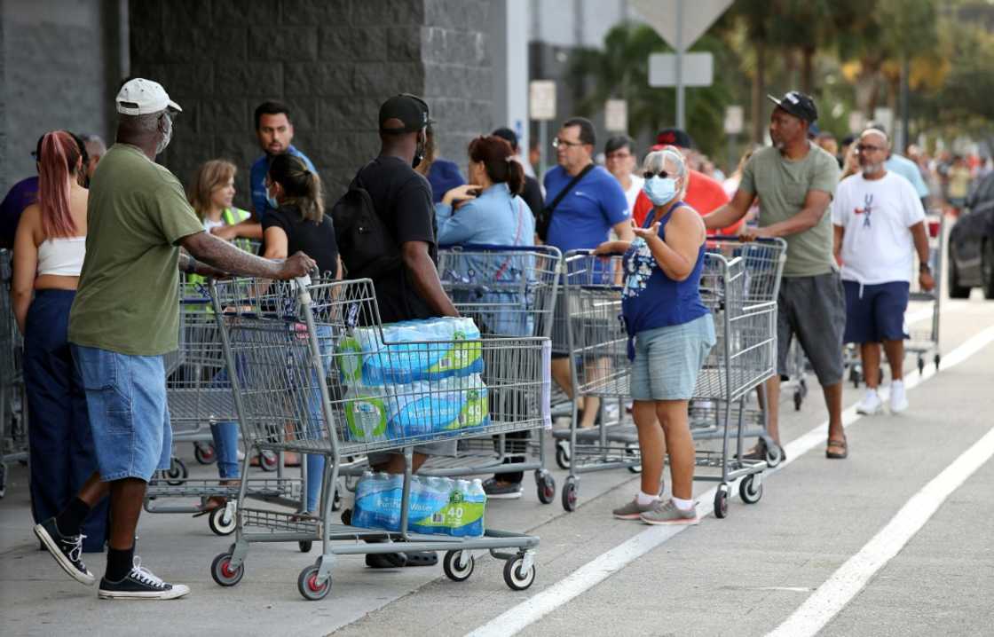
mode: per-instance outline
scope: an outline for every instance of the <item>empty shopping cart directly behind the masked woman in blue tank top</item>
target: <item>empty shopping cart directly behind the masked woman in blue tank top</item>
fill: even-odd
[[[746,503],[762,497],[760,474],[767,462],[745,459],[743,446],[749,434],[765,434],[764,419],[754,423],[758,430],[747,429],[745,400],[775,373],[776,302],[770,299],[778,289],[784,248],[782,240],[748,245],[727,239],[712,241],[705,254],[701,295],[714,316],[718,343],[698,377],[697,411],[692,415],[707,421],[696,427],[695,438],[721,438],[722,445],[717,451],[698,449],[697,466],[706,471],[696,472],[695,479],[720,482],[715,512],[721,518],[728,514],[731,482],[743,479],[740,493]],[[620,322],[621,257],[568,252],[564,269],[576,392],[628,398],[627,334]],[[583,440],[575,420],[569,431],[555,433],[564,440],[569,437],[570,475],[562,496],[567,511],[576,510],[580,473],[640,467],[637,433],[630,425],[604,423]]]

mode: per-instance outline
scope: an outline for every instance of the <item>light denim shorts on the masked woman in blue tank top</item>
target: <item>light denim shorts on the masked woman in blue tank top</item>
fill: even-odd
[[[688,323],[635,335],[630,395],[633,400],[689,400],[711,348],[715,320],[705,314]]]

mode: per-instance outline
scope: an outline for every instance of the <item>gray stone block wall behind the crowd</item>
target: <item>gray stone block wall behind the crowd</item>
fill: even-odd
[[[160,161],[184,183],[230,159],[248,207],[252,112],[276,98],[334,200],[378,152],[379,104],[398,92],[425,96],[442,153],[465,163],[490,125],[485,20],[483,0],[131,0],[131,74],[183,106]]]

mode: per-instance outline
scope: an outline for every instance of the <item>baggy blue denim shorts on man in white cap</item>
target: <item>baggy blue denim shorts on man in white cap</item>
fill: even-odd
[[[161,356],[73,346],[83,379],[100,479],[148,482],[168,469],[173,446]]]

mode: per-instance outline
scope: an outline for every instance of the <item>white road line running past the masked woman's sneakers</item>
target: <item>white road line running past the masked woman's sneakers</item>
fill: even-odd
[[[948,370],[970,358],[994,341],[994,327],[974,335],[942,359],[942,369]],[[935,375],[935,369],[928,367],[920,376],[912,374],[905,378],[905,387],[911,390]],[[861,416],[853,405],[843,412],[843,425],[850,426]],[[786,467],[804,453],[824,444],[828,421],[822,422],[807,433],[795,438],[784,446],[786,459],[773,469],[767,470],[767,477]],[[713,501],[717,487],[698,496],[697,513],[701,518],[714,513]],[[737,494],[731,490],[732,497]],[[468,633],[470,637],[505,637],[515,635],[527,626],[556,610],[558,607],[597,585],[610,575],[621,570],[634,559],[656,549],[688,527],[649,527],[637,536],[625,541],[614,549],[594,557],[560,581],[532,595],[525,601],[512,606],[486,624]]]

